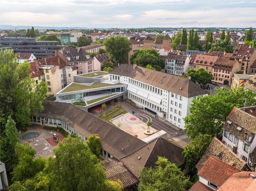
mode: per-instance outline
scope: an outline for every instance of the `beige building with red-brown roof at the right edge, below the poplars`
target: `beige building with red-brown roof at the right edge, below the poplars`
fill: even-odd
[[[233,52],[230,60],[237,60],[240,64],[240,71],[244,74],[251,74],[251,66],[256,59],[255,48],[251,48],[250,45],[239,44]]]

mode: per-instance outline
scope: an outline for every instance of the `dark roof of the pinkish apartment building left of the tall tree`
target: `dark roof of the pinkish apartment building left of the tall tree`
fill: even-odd
[[[59,50],[63,56],[70,57],[70,63],[73,62],[88,62],[90,60],[93,60],[91,56],[89,58],[86,58],[89,54],[85,52],[83,48],[65,48],[62,50]],[[76,56],[79,56],[78,59],[76,59]]]

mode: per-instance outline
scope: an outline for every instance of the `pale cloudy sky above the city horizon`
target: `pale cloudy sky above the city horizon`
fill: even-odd
[[[256,0],[1,0],[0,23],[89,28],[256,28]]]

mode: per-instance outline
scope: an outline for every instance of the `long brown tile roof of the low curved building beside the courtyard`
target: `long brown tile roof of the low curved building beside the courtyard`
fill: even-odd
[[[98,134],[102,148],[115,158],[124,157],[146,144],[146,142],[71,103],[45,100],[42,105],[44,110],[38,112],[40,117],[51,116],[54,119],[64,121],[87,138],[91,134]],[[123,151],[122,148],[124,148]]]

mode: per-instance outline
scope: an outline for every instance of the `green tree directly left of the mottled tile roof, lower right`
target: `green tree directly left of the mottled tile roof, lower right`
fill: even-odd
[[[197,173],[196,164],[199,162],[204,152],[212,141],[211,135],[199,134],[194,139],[190,139],[190,144],[182,152],[186,168],[189,168],[194,174]]]

